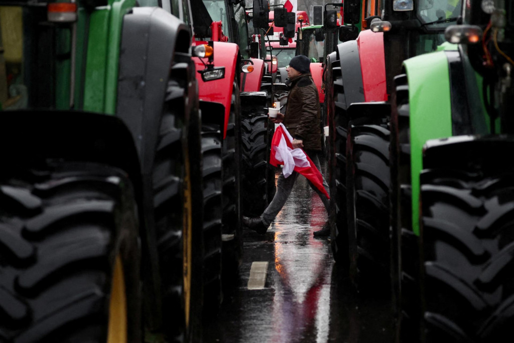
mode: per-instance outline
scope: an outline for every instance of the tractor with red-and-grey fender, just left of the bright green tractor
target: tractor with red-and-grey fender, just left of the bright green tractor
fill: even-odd
[[[390,170],[389,157],[394,77],[407,58],[444,47],[444,31],[460,20],[461,3],[369,3],[345,2],[345,21],[358,23],[359,13],[368,8],[366,15],[382,15],[366,17],[369,29],[339,44],[328,56],[325,72],[330,79],[325,91],[332,136],[332,250],[359,291],[376,291],[380,284],[381,293],[387,294],[392,285],[396,299],[397,239],[396,231],[390,232],[390,175],[396,172]],[[449,3],[455,5],[451,10]],[[346,29],[345,34],[352,33]],[[403,282],[409,282],[406,275]]]

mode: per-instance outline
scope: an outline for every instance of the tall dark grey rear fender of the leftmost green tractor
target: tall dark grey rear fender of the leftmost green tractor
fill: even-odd
[[[194,64],[189,54],[190,45],[189,27],[161,8],[136,7],[123,17],[116,115],[130,130],[139,155],[141,222],[153,216],[152,169],[163,106],[168,95],[176,95],[168,94],[170,79],[183,83],[184,108],[177,111],[183,110],[185,120],[188,118],[186,113],[189,113],[186,107],[191,105],[186,104],[186,99],[194,97],[194,94],[187,94],[192,88],[191,82],[195,81],[191,76]],[[194,101],[193,98],[191,101]],[[143,227],[140,236],[141,252],[146,261],[144,297],[152,308],[148,320],[154,326],[158,325],[160,319],[161,287],[155,226],[150,224]]]

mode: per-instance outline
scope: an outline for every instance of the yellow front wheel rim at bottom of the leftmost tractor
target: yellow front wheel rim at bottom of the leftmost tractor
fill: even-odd
[[[109,301],[109,323],[107,343],[124,343],[127,341],[127,307],[123,264],[120,256],[114,263],[111,300]]]

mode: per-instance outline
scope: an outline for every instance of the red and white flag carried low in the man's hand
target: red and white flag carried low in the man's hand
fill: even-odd
[[[302,148],[292,148],[292,137],[282,123],[275,129],[275,134],[271,140],[269,163],[276,167],[281,164],[284,165],[282,174],[285,178],[289,177],[293,171],[300,173],[330,199],[325,187],[323,187],[323,176],[320,171]]]

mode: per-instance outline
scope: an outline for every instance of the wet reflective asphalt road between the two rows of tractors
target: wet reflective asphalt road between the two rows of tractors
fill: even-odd
[[[299,177],[264,236],[245,230],[240,275],[204,326],[204,342],[392,342],[391,300],[357,294],[329,240],[313,237],[326,220],[321,200]],[[268,262],[261,290],[248,289],[255,261]]]

